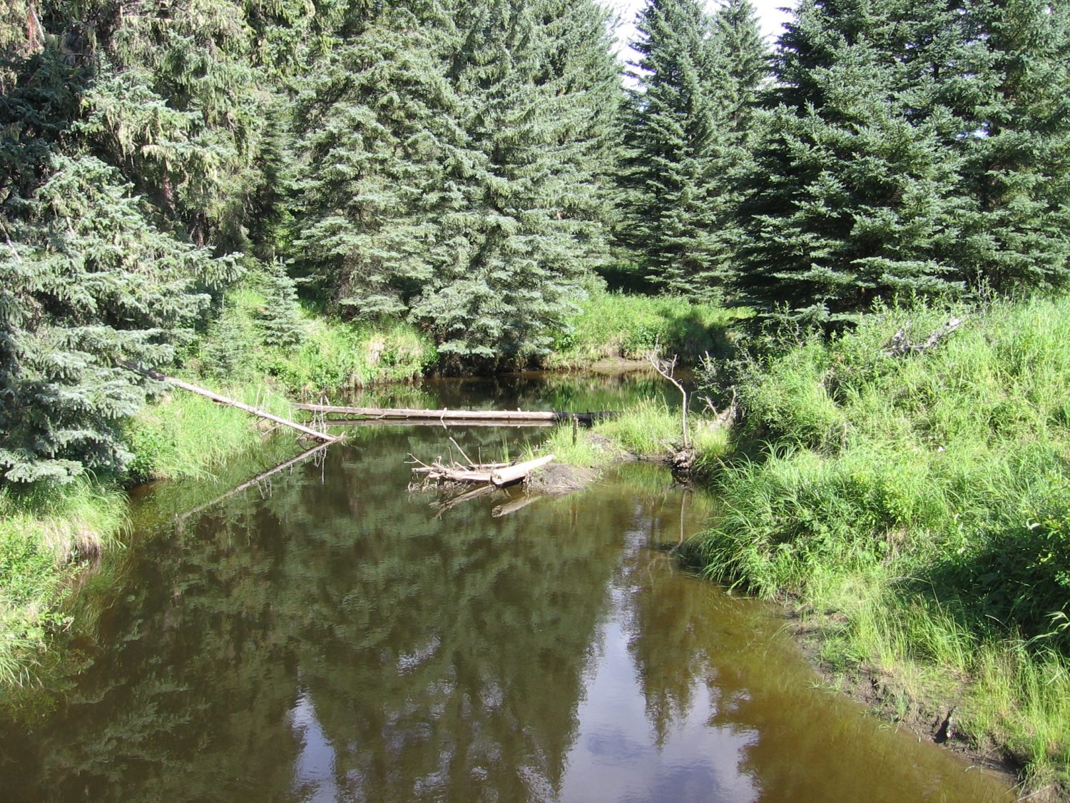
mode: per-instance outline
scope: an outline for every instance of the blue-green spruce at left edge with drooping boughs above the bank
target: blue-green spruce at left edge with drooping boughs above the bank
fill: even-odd
[[[144,397],[118,365],[167,362],[229,260],[175,239],[77,134],[89,71],[70,34],[11,62],[0,96],[0,480],[67,480],[128,456]]]

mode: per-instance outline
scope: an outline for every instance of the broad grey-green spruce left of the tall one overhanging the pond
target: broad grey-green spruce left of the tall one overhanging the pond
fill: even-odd
[[[403,315],[431,277],[457,103],[441,42],[395,7],[336,49],[299,97],[300,262],[354,317]]]

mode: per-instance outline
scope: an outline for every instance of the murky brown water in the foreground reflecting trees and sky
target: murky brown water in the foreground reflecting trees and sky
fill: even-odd
[[[775,610],[678,571],[709,500],[660,469],[438,515],[404,455],[447,444],[361,429],[185,518],[235,479],[150,494],[81,595],[70,694],[0,733],[0,799],[1012,799],[823,690]]]

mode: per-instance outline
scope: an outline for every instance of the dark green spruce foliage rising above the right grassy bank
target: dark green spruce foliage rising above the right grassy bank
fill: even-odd
[[[836,323],[1061,285],[1068,35],[1031,0],[800,4],[739,210],[750,303]]]

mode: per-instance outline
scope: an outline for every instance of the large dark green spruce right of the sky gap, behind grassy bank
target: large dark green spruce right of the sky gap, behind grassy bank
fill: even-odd
[[[876,298],[962,287],[942,257],[962,206],[957,157],[932,88],[893,45],[903,30],[917,41],[910,20],[902,3],[807,1],[780,41],[779,105],[743,209],[739,286],[766,313],[837,321]]]

